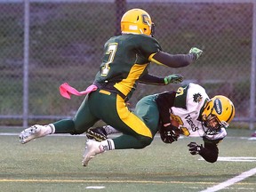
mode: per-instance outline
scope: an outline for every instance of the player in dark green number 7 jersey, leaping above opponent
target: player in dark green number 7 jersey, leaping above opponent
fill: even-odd
[[[139,81],[157,84],[156,76],[148,75],[150,62],[169,68],[181,68],[197,60],[203,51],[193,47],[188,54],[173,55],[163,52],[153,37],[154,23],[148,12],[141,9],[124,13],[121,31],[121,36],[111,37],[104,45],[100,70],[93,82],[96,90],[93,89],[93,92],[86,95],[76,116],[52,124],[33,125],[20,132],[21,143],[52,133],[81,134],[100,119],[115,126],[118,131],[130,135],[132,140],[138,140],[140,145],[151,142],[153,135],[147,124],[144,124],[125,102],[131,98]],[[159,78],[159,81],[160,84],[168,84],[173,79],[175,80],[175,77],[167,76]],[[130,140],[125,142],[129,143]],[[109,141],[106,148],[115,148],[113,140]],[[83,164],[87,163],[88,156],[85,156]]]

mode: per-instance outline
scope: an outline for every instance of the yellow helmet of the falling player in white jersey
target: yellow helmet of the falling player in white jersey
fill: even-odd
[[[227,128],[235,116],[235,107],[231,100],[222,95],[216,95],[205,104],[202,112],[204,125],[212,132]]]

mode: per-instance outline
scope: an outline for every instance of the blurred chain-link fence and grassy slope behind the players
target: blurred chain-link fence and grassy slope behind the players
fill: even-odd
[[[231,128],[255,129],[256,3],[253,0],[0,0],[0,126],[48,124],[75,115],[84,97],[66,100],[59,86],[83,91],[100,67],[103,45],[120,35],[132,8],[147,11],[164,52],[204,55],[186,68],[152,63],[151,74],[180,73],[210,97],[222,94],[236,107]],[[139,84],[143,96],[180,84]],[[108,110],[108,108],[106,108]]]

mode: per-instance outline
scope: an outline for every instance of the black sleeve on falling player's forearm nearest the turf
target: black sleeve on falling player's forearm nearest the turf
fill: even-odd
[[[199,155],[209,163],[216,162],[219,156],[219,148],[217,146],[219,142],[220,140],[204,140],[204,148],[202,148]]]

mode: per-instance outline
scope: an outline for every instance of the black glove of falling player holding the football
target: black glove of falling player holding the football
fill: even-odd
[[[177,134],[178,130],[179,128],[176,126],[173,126],[172,124],[166,127],[162,126],[160,129],[161,140],[163,140],[164,143],[172,143],[178,140],[178,138],[180,137],[180,135]]]

